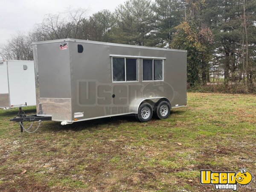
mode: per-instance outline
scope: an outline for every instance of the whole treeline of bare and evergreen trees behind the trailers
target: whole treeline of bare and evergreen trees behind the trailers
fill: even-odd
[[[33,59],[32,41],[78,38],[186,49],[189,86],[218,80],[256,92],[255,0],[128,0],[114,12],[47,15],[1,49],[5,59]],[[68,16],[67,16],[68,15]]]

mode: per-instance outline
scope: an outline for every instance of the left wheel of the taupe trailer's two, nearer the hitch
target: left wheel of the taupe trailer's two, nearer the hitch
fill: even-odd
[[[136,119],[138,119],[140,122],[147,122],[152,118],[152,116],[152,106],[148,103],[141,104],[138,110],[138,114],[136,114]]]

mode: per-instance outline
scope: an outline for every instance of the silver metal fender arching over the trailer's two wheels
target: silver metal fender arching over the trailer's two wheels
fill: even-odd
[[[159,102],[159,101],[167,101],[169,102],[169,99],[167,99],[166,97],[147,97],[147,98],[140,98],[140,99],[136,99],[133,102],[131,102],[131,111],[135,114],[138,113],[140,104],[142,104],[143,102],[148,102],[150,105],[152,105],[152,108],[154,110],[154,105]],[[170,102],[169,102],[170,103]]]

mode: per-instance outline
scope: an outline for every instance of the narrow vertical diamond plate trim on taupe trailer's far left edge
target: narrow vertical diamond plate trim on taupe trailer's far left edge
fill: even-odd
[[[41,115],[41,111],[39,108],[39,74],[38,74],[38,53],[37,53],[37,45],[33,45],[33,57],[34,57],[34,67],[35,67],[35,98],[36,98],[36,111],[38,115]]]

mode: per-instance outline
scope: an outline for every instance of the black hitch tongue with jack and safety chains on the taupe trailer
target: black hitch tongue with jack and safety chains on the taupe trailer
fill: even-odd
[[[51,121],[52,120],[52,117],[51,116],[37,116],[36,114],[35,115],[29,115],[29,116],[26,116],[25,112],[22,111],[22,108],[20,107],[19,108],[19,112],[17,114],[17,117],[14,117],[12,119],[10,119],[10,121],[14,121],[14,122],[18,122],[20,124],[20,133],[23,132],[23,129],[28,132],[28,133],[33,133],[35,132],[36,130],[38,130],[39,126],[41,125],[41,122],[42,121]],[[38,121],[39,122],[39,125],[38,127],[36,128],[35,131],[29,131],[30,128],[32,127],[32,124],[29,126],[28,129],[24,128],[23,127],[23,122],[35,122],[35,121]]]

